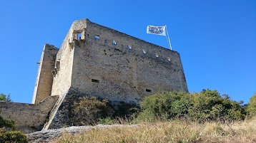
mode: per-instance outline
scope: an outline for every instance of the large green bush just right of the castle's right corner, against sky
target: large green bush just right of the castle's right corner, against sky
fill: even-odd
[[[192,94],[192,106],[189,108],[189,117],[199,122],[210,120],[243,120],[243,107],[226,95],[221,97],[217,90],[203,90]]]

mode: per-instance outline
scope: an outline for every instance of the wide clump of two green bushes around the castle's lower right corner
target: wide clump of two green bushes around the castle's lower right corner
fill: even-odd
[[[145,97],[140,103],[137,120],[172,120],[183,118],[198,122],[233,121],[245,119],[245,108],[217,90],[184,93],[168,92]]]

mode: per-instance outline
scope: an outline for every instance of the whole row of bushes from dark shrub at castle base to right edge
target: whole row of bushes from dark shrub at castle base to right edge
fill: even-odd
[[[82,116],[80,122],[86,121],[89,122],[87,125],[95,125],[174,119],[233,122],[256,115],[256,94],[251,97],[247,106],[241,103],[230,100],[228,95],[220,95],[217,90],[209,89],[194,93],[166,92],[150,95],[139,103],[136,110],[136,105],[128,103],[119,103],[114,107],[108,100],[80,97],[74,103],[74,117]]]

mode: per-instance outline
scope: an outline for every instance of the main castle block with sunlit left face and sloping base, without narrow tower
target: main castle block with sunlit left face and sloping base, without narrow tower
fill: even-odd
[[[188,91],[179,53],[88,19],[72,24],[53,77],[51,95],[60,98],[44,129],[71,123],[67,111],[73,91],[132,104],[156,92]]]

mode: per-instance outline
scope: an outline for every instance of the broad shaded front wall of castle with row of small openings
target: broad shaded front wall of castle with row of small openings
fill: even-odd
[[[187,92],[179,53],[81,20],[74,40],[72,86],[87,95],[137,102],[155,92]],[[74,26],[76,27],[76,26]]]

